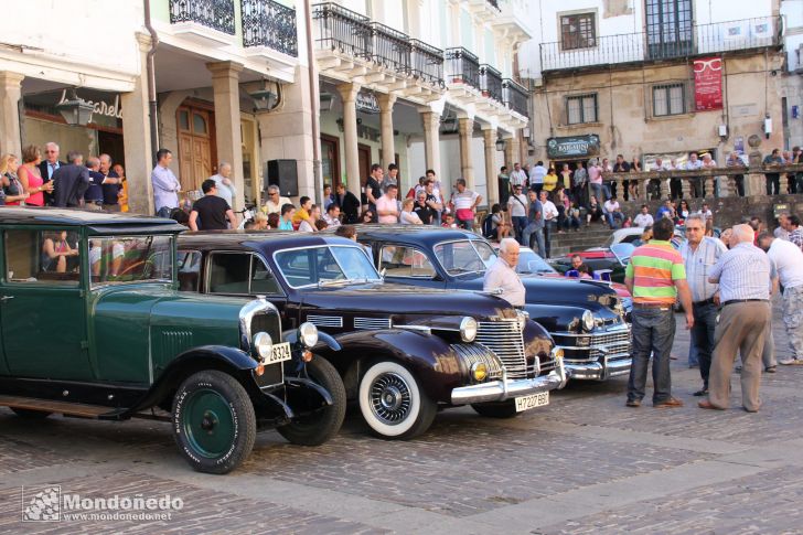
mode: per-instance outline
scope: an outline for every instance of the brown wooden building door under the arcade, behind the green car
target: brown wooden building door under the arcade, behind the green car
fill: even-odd
[[[179,162],[182,191],[201,190],[201,183],[213,174],[213,113],[194,106],[181,106],[176,111],[179,129]]]

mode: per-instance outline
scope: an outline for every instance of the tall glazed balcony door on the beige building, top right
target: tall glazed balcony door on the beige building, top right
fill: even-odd
[[[692,0],[645,0],[645,8],[650,60],[693,53]]]

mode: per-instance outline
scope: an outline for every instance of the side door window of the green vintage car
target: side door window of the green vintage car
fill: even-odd
[[[6,231],[6,281],[78,286],[81,247],[68,231]]]

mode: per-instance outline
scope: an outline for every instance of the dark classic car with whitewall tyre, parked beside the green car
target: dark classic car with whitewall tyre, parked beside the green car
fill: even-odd
[[[288,328],[336,340],[315,346],[349,399],[385,438],[427,430],[438,408],[469,405],[511,417],[546,405],[566,384],[561,351],[503,299],[384,283],[351,239],[306,233],[196,233],[179,237],[181,289],[264,296]],[[314,378],[314,377],[312,377]]]

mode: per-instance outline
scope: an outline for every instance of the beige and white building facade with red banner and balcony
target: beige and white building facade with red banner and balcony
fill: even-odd
[[[753,136],[764,153],[783,146],[777,0],[542,0],[539,11],[523,56],[533,159],[682,163],[699,151],[724,164]]]

